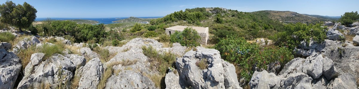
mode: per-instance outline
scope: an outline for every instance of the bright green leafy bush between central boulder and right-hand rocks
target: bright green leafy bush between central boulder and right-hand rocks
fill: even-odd
[[[293,59],[292,52],[286,47],[260,47],[255,43],[247,43],[243,37],[228,36],[221,38],[215,45],[225,61],[239,64],[241,77],[249,80],[253,74],[252,66],[266,69],[266,65],[275,61],[285,64]]]

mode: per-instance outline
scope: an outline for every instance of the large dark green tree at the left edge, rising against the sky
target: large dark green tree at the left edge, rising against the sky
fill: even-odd
[[[0,5],[0,21],[18,27],[19,31],[23,32],[22,28],[32,25],[36,12],[37,10],[27,2],[23,5],[15,5],[12,1],[6,1],[5,4]]]

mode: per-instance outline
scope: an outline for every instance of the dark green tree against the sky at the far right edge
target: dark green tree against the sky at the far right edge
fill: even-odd
[[[344,15],[341,15],[339,21],[342,22],[344,25],[349,25],[358,19],[359,19],[358,11],[355,12],[351,11],[351,12],[345,12]]]

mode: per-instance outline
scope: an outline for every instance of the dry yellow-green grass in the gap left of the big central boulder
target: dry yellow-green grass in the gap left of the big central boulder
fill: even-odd
[[[176,54],[170,52],[158,53],[158,51],[152,46],[142,47],[143,54],[149,57],[152,70],[157,70],[158,75],[150,75],[149,78],[155,82],[156,87],[165,88],[164,77],[168,67],[175,67]],[[163,80],[162,80],[163,79]]]

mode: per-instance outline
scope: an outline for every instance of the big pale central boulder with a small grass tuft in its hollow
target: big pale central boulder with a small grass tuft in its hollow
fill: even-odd
[[[203,70],[197,66],[198,61],[202,59],[207,59],[205,64],[208,66]],[[242,89],[237,80],[235,67],[221,59],[216,49],[197,47],[197,51],[188,51],[183,57],[177,58],[176,66],[180,78],[194,89]]]

